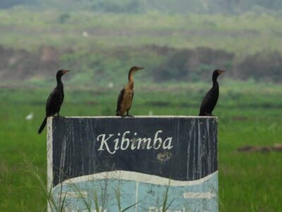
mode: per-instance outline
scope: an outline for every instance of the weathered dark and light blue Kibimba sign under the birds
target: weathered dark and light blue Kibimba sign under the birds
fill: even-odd
[[[218,211],[216,131],[216,117],[49,118],[49,210]]]

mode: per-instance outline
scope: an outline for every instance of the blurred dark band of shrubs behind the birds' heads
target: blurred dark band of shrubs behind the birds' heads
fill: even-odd
[[[94,50],[93,50],[94,51]],[[210,81],[214,69],[226,69],[228,78],[282,83],[282,56],[259,52],[243,59],[207,47],[173,49],[155,45],[112,49],[106,52],[80,52],[73,49],[40,47],[36,52],[0,46],[0,79],[21,80],[50,76],[60,66],[71,67],[82,81],[123,77],[133,64],[146,67],[146,78],[164,81]],[[149,55],[149,56],[148,56]],[[11,74],[12,73],[12,74]],[[92,78],[93,76],[93,78]]]

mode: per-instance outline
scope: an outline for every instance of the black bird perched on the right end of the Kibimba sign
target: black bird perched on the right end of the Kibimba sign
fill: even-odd
[[[217,78],[223,72],[225,71],[220,69],[214,70],[212,74],[212,88],[204,96],[204,100],[202,100],[199,116],[212,116],[212,111],[216,106],[217,100],[219,100],[219,83],[217,82]]]

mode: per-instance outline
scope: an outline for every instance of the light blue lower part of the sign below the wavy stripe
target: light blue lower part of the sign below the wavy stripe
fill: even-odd
[[[154,176],[153,176],[154,177]],[[78,177],[79,178],[79,177]],[[169,179],[167,179],[169,181]],[[54,188],[54,199],[68,211],[95,211],[94,196],[102,211],[118,211],[116,194],[121,194],[121,209],[137,202],[128,211],[162,211],[168,189],[168,211],[218,211],[218,175],[214,172],[204,182],[189,186],[166,186],[123,179],[92,179],[89,181],[59,184]],[[60,195],[61,194],[61,195]],[[136,196],[137,195],[137,196]],[[197,196],[198,195],[198,196]],[[199,196],[200,195],[200,196]],[[137,200],[137,201],[136,201]]]

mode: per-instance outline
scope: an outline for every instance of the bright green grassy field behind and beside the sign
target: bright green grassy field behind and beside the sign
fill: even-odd
[[[197,115],[209,85],[200,83],[138,86],[132,114]],[[0,211],[44,211],[44,192],[26,171],[23,155],[46,181],[46,132],[37,135],[44,117],[47,88],[8,88],[0,92]],[[112,115],[117,89],[66,86],[65,116]],[[245,145],[282,143],[282,86],[221,83],[219,105],[219,198],[221,211],[282,211],[281,153],[242,153]],[[34,113],[34,119],[25,116]]]

